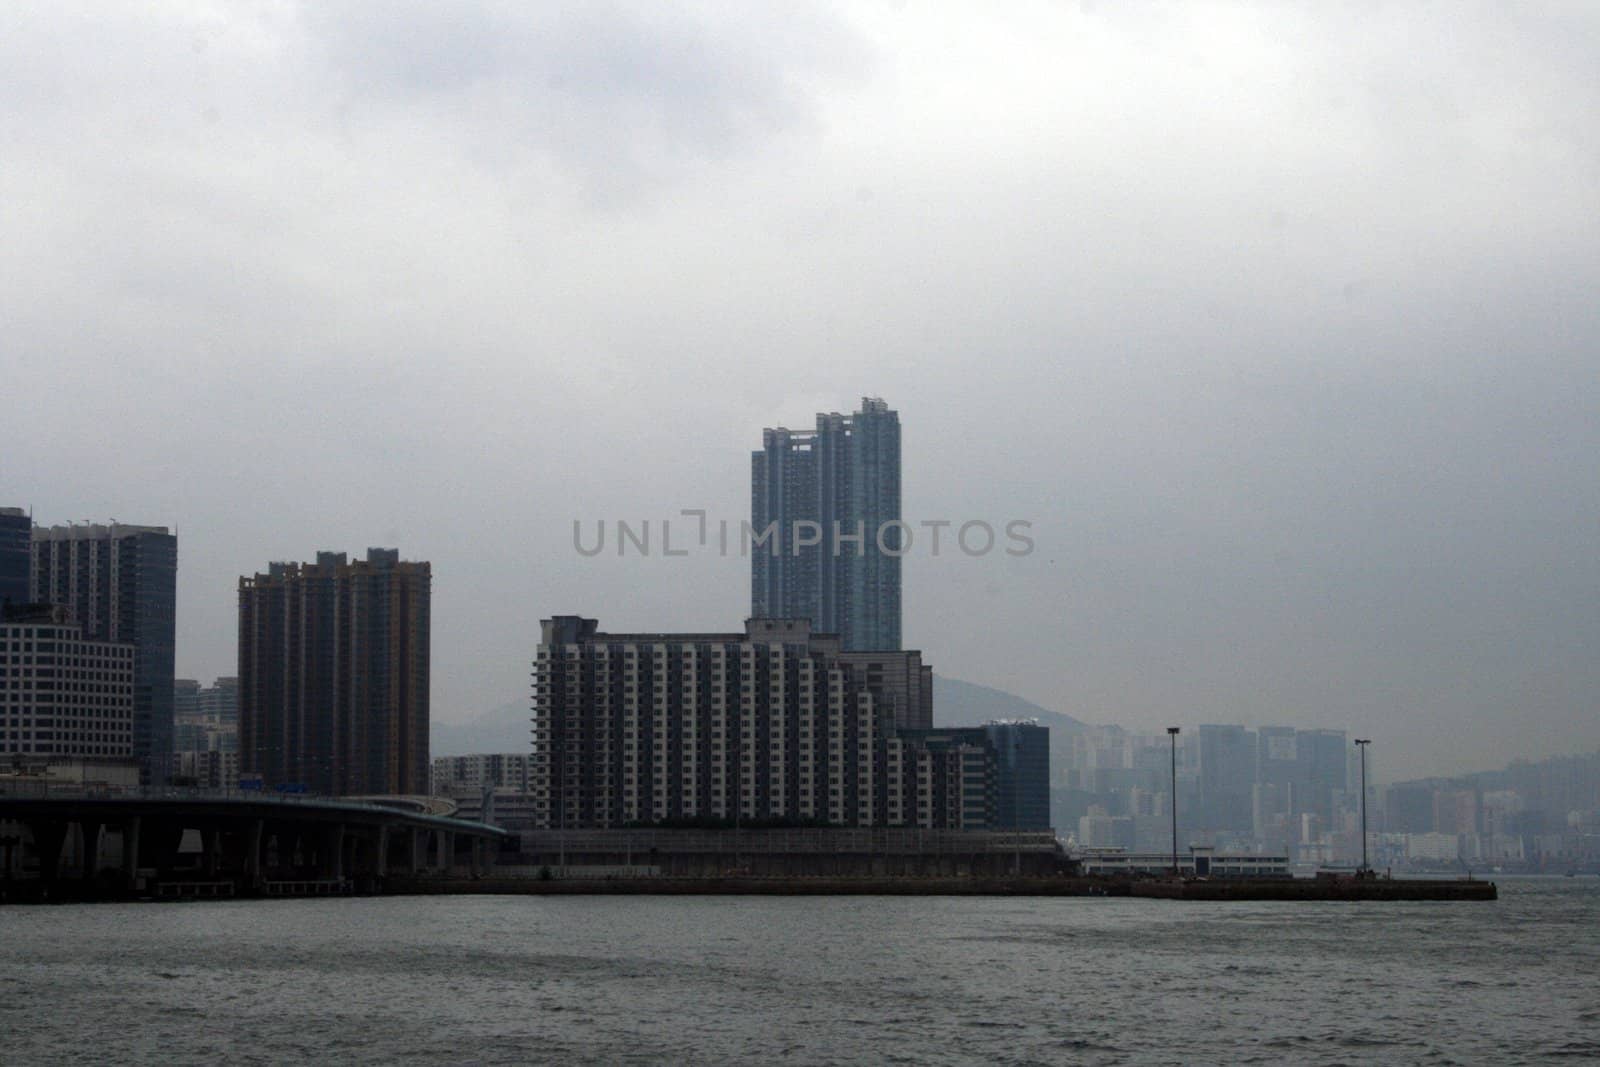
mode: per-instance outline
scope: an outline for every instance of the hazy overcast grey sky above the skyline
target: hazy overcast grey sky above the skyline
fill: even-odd
[[[909,520],[1034,523],[907,558],[941,673],[1600,745],[1600,6],[152,6],[0,16],[0,504],[176,526],[181,675],[318,549],[432,561],[435,720],[738,629],[573,520],[874,394]]]

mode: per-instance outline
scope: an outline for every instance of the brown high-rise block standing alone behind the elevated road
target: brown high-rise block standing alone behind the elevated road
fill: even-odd
[[[330,795],[427,793],[432,568],[318,552],[238,579],[240,774]]]

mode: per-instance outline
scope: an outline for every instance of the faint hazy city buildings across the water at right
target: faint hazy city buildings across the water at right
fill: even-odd
[[[1064,747],[1054,813],[1080,848],[1171,848],[1166,734],[1094,726]],[[1301,867],[1360,862],[1360,763],[1342,731],[1206,725],[1179,736],[1176,757],[1181,851],[1202,845],[1282,854]],[[1368,766],[1366,854],[1374,867],[1600,865],[1600,757],[1384,789],[1371,782]]]

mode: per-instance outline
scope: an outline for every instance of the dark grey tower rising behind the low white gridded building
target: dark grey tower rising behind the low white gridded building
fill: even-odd
[[[178,537],[122,523],[34,528],[30,600],[64,606],[88,641],[130,641],[133,758],[162,784],[173,753]]]

